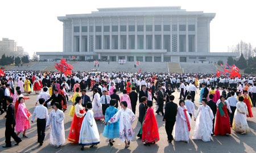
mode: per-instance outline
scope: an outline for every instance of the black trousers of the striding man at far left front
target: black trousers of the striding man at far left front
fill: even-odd
[[[6,125],[5,129],[5,143],[6,146],[11,146],[11,137],[13,137],[16,143],[22,141],[18,135],[14,132],[14,126],[11,128],[11,125]]]

